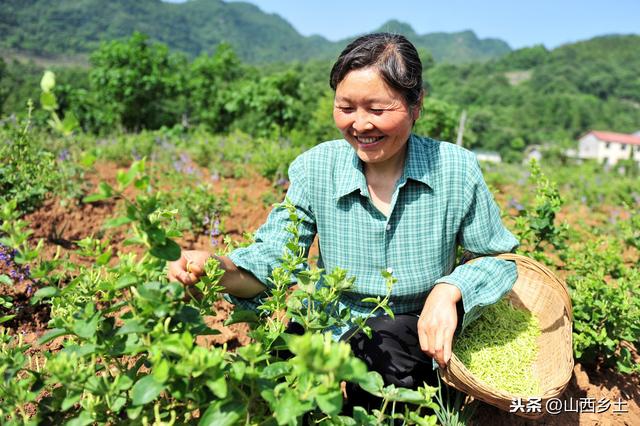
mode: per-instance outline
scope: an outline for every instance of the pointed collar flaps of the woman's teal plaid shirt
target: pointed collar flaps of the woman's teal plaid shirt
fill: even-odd
[[[425,144],[421,138],[414,134],[409,136],[409,140],[407,141],[407,158],[402,177],[400,178],[401,183],[407,179],[412,179],[433,188],[431,185],[431,158],[429,158],[429,147],[431,144],[428,142],[429,139],[427,139],[427,144]],[[364,177],[362,161],[353,149],[350,155],[347,156],[343,170],[338,174],[335,188],[336,199],[351,194],[355,190],[360,190],[360,193],[363,195],[369,193],[367,181]]]

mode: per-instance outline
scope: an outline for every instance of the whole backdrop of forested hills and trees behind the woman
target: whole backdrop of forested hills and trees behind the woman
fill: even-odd
[[[30,6],[18,7],[15,0],[3,3],[0,49],[4,43],[40,53],[68,54],[70,46],[75,46],[75,52],[90,51],[86,61],[90,66],[53,69],[60,114],[73,112],[85,132],[202,127],[216,134],[242,131],[252,136],[286,137],[305,146],[336,136],[327,77],[337,51],[348,40],[332,44],[320,37],[302,37],[281,18],[265,15],[247,3],[59,0],[57,6],[48,8],[43,0],[22,3]],[[207,18],[205,11],[215,7],[224,19]],[[110,16],[111,23],[98,27],[97,19],[84,17],[87,10]],[[200,16],[190,15],[189,10]],[[251,13],[232,18],[238,10]],[[169,20],[177,15],[181,20]],[[4,36],[27,16],[33,22]],[[249,24],[252,20],[257,23]],[[48,25],[49,33],[38,25]],[[247,48],[234,47],[231,42],[218,44],[232,38],[232,28],[243,26],[252,28],[237,33],[244,37]],[[136,32],[118,37],[131,27],[148,36]],[[229,37],[215,38],[218,36],[208,32],[212,28]],[[465,146],[496,150],[509,161],[519,161],[528,145],[553,146],[561,152],[591,129],[640,129],[638,35],[597,37],[553,50],[533,46],[506,52],[508,46],[502,42],[480,42],[470,32],[419,35],[397,21],[374,30],[407,35],[425,59],[427,96],[417,133],[455,140],[458,120],[466,111]],[[260,42],[251,41],[260,39],[262,31],[269,32],[271,41],[266,41],[266,35]],[[207,43],[195,42],[200,33],[209,34]],[[81,34],[93,38],[85,43]],[[117,40],[101,43],[99,35],[103,34]],[[159,42],[163,37],[171,41]],[[432,43],[435,39],[441,43]],[[309,43],[318,45],[309,47]],[[474,49],[474,43],[484,47]],[[426,45],[431,46],[435,61],[430,60]],[[267,50],[267,46],[280,50]],[[185,55],[186,49],[194,50]],[[438,56],[443,54],[438,49],[479,61],[446,62]],[[196,55],[202,50],[212,53]],[[318,58],[311,57],[312,53]],[[289,62],[291,59],[299,61]],[[3,117],[25,114],[30,98],[36,101],[34,122],[46,125],[47,114],[37,105],[42,72],[41,64],[0,58],[0,123]]]

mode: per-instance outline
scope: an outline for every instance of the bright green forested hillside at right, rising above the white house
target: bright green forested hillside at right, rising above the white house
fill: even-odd
[[[590,129],[640,129],[640,36],[519,49],[482,64],[438,64],[431,96],[466,109],[475,147],[521,152],[573,143]]]

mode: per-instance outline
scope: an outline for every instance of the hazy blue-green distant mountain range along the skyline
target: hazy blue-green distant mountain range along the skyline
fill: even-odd
[[[380,29],[409,36],[438,62],[486,60],[511,50],[501,40],[480,40],[472,31],[419,35],[397,21]],[[100,42],[127,38],[134,31],[192,58],[226,42],[251,63],[328,59],[348,41],[304,37],[280,16],[244,2],[3,0],[0,8],[0,48],[39,56],[86,56]]]

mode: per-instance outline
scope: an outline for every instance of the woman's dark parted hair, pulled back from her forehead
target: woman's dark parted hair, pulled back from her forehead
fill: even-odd
[[[422,62],[418,51],[400,34],[367,34],[349,43],[331,68],[329,85],[336,90],[349,71],[374,67],[408,106],[420,102]]]

